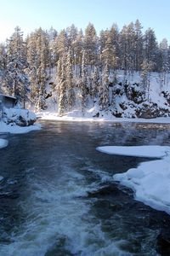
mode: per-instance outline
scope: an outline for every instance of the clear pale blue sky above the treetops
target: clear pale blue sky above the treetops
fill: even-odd
[[[170,0],[0,0],[0,42],[20,26],[26,36],[38,27],[57,31],[91,22],[97,32],[116,23],[119,29],[139,19],[144,31],[151,27],[160,42],[170,44]]]

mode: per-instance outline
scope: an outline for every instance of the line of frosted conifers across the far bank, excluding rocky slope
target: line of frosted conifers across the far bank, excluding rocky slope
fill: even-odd
[[[123,26],[114,24],[97,35],[89,23],[85,31],[72,25],[57,32],[41,27],[26,39],[17,26],[6,44],[0,44],[0,91],[46,108],[47,84],[57,94],[59,113],[74,107],[77,97],[85,111],[88,98],[98,99],[101,109],[109,104],[110,74],[116,84],[116,70],[126,76],[141,73],[144,90],[150,72],[161,73],[166,83],[170,71],[170,46],[167,39],[158,44],[153,29],[142,32],[139,20]],[[115,74],[115,76],[114,76]],[[50,82],[51,77],[55,78]]]

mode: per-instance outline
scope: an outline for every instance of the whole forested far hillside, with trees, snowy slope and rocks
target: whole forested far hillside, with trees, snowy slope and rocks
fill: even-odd
[[[169,115],[170,47],[139,20],[97,34],[72,25],[38,28],[26,38],[16,27],[0,44],[0,92],[25,108],[59,116],[154,118]]]

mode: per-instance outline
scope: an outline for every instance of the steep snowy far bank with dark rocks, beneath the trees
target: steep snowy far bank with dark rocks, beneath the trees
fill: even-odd
[[[100,74],[102,77],[102,74]],[[75,78],[77,80],[77,78]],[[92,81],[88,78],[89,81]],[[75,81],[76,81],[75,80]],[[101,94],[102,84],[96,88],[95,96],[92,91],[93,83],[87,84],[87,95],[82,101],[82,89],[78,80],[74,84],[75,100],[69,107],[66,100],[69,91],[65,88],[65,104],[62,109],[59,103],[59,84],[56,84],[57,91],[51,88],[50,84],[56,83],[56,75],[51,78],[50,84],[47,85],[47,95],[44,100],[44,106],[39,106],[36,109],[45,111],[41,113],[43,119],[58,119],[59,115],[71,120],[102,120],[103,119],[156,119],[156,118],[170,118],[170,93],[169,82],[162,84],[159,73],[150,73],[150,87],[146,89],[140,73],[133,73],[133,75],[125,74],[122,70],[110,73],[109,85],[107,86],[107,103],[103,106]],[[74,81],[74,82],[75,82]],[[170,81],[170,77],[168,79]],[[79,86],[79,85],[80,86]],[[61,100],[61,99],[60,99]],[[84,103],[83,103],[84,102]],[[41,108],[40,108],[41,107]],[[83,107],[83,108],[82,108]],[[42,110],[43,109],[43,110]],[[68,113],[68,109],[71,112]],[[50,113],[50,116],[47,113]]]

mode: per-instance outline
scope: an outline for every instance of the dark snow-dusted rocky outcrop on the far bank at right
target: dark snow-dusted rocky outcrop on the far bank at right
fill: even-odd
[[[161,91],[161,95],[153,100],[146,99],[142,84],[116,84],[112,90],[110,111],[115,117],[129,119],[170,116],[170,94]]]

